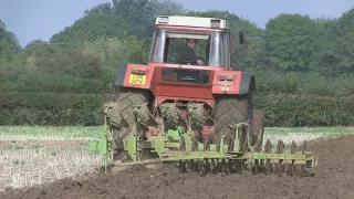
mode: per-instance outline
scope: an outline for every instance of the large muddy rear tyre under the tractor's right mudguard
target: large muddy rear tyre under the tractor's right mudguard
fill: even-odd
[[[228,126],[233,127],[237,123],[251,122],[252,108],[253,103],[251,93],[238,96],[219,96],[215,107],[215,143],[220,144],[221,136],[228,132]],[[225,144],[228,144],[229,140],[230,139],[226,137],[223,142]]]

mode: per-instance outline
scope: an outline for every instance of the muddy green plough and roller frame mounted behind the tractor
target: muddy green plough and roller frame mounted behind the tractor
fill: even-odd
[[[290,165],[294,168],[300,166],[302,170],[305,168],[312,168],[317,165],[317,157],[313,156],[312,151],[306,151],[305,146],[301,151],[298,151],[296,145],[292,143],[290,151],[284,150],[284,145],[282,140],[278,142],[277,151],[271,153],[271,143],[268,139],[264,146],[264,151],[261,151],[262,146],[259,146],[257,142],[254,147],[249,147],[249,135],[247,135],[248,124],[240,123],[233,127],[229,127],[229,130],[222,135],[220,147],[216,144],[202,144],[197,143],[197,147],[194,147],[194,134],[190,125],[185,132],[183,126],[176,126],[176,129],[163,129],[165,126],[160,126],[160,134],[155,136],[149,136],[147,140],[138,139],[139,125],[144,121],[152,119],[153,116],[148,115],[147,105],[136,105],[133,111],[135,113],[135,125],[133,132],[129,134],[127,139],[123,140],[123,146],[115,146],[112,139],[112,129],[107,121],[112,116],[110,115],[110,109],[114,104],[105,105],[105,119],[104,119],[104,130],[98,140],[93,140],[88,143],[88,149],[97,151],[104,160],[104,166],[113,164],[115,166],[132,166],[140,164],[152,164],[152,163],[169,163],[169,161],[232,161],[232,160],[247,160],[252,169],[258,169],[261,166],[275,165],[278,169],[283,169],[284,165]],[[171,116],[174,112],[170,107],[173,104],[166,104],[167,112],[165,116]],[[198,104],[190,104],[189,115],[196,114],[194,111],[198,109]],[[176,113],[175,113],[176,116]],[[115,124],[116,126],[118,124]],[[229,149],[229,145],[223,143],[226,136],[233,137],[233,148]],[[259,135],[259,139],[262,137]],[[183,142],[181,142],[183,140]],[[185,144],[185,149],[180,150],[181,144]],[[208,146],[206,146],[208,145]],[[305,143],[304,143],[305,145]],[[208,150],[205,150],[206,147]],[[219,148],[219,150],[218,150]],[[119,163],[113,159],[114,150],[124,149],[131,157],[131,161]],[[157,157],[148,159],[139,159],[138,153],[143,150],[150,150],[156,153]]]

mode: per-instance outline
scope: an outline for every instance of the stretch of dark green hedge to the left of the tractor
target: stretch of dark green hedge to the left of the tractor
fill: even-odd
[[[103,95],[1,93],[0,125],[102,124]]]

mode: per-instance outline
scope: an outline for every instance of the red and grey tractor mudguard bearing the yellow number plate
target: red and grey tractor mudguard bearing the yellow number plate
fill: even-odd
[[[128,64],[117,69],[115,84],[124,87],[149,90],[154,71],[147,65]]]

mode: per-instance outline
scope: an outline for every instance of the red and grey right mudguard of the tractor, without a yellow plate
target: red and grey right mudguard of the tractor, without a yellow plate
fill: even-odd
[[[216,71],[212,81],[212,94],[247,94],[256,90],[252,73],[242,71]]]

